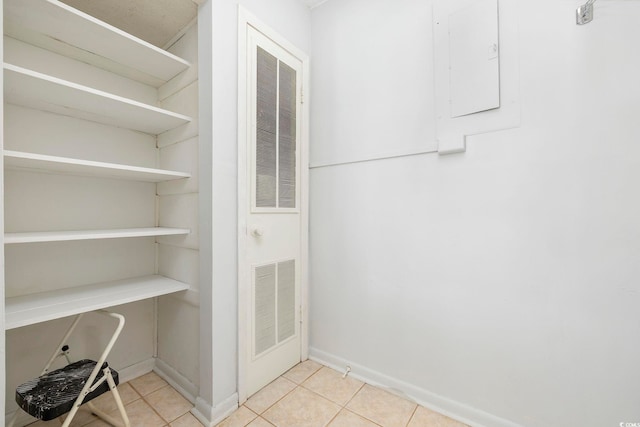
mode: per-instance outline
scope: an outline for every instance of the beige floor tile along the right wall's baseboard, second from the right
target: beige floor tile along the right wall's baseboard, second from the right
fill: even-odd
[[[387,391],[365,384],[346,407],[383,427],[405,427],[417,406]]]

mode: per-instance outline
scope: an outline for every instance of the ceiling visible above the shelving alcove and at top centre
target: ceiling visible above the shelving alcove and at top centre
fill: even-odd
[[[194,0],[60,0],[158,47],[197,15]],[[327,0],[300,0],[313,8]]]

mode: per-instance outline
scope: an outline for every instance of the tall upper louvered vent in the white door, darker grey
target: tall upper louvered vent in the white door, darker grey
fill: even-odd
[[[296,208],[296,70],[257,48],[256,208]]]

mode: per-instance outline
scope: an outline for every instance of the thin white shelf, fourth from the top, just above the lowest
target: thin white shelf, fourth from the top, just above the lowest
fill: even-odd
[[[5,244],[68,242],[72,240],[122,239],[126,237],[157,237],[189,234],[186,228],[122,228],[112,230],[37,231],[5,233]]]

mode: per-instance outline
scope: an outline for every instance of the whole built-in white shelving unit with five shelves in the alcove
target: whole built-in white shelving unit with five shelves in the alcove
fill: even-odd
[[[153,136],[157,136],[192,121],[192,118],[186,115],[159,108],[159,102],[157,105],[151,105],[154,102],[140,102],[139,100],[78,84],[72,81],[73,78],[68,77],[68,75],[73,76],[77,75],[78,72],[84,73],[88,70],[90,73],[95,71],[95,75],[93,76],[94,80],[92,81],[96,81],[95,78],[101,78],[107,75],[107,73],[104,73],[104,71],[107,71],[151,86],[152,88],[160,88],[163,84],[187,70],[191,66],[188,61],[56,0],[4,0],[3,3],[5,37],[17,39],[29,45],[44,49],[44,51],[40,49],[29,50],[28,55],[32,55],[33,57],[29,57],[29,60],[26,61],[26,66],[24,62],[21,62],[21,60],[24,59],[21,55],[16,55],[17,60],[15,61],[3,62],[5,105],[23,107],[14,108],[15,116],[13,117],[31,117],[28,115],[29,110],[26,109],[53,113],[57,116],[51,120],[57,123],[56,126],[58,126],[54,126],[53,129],[58,132],[60,132],[61,129],[66,130],[64,128],[65,126],[74,126],[74,123],[80,123],[79,121],[70,121],[68,117],[100,123],[114,128],[121,128],[118,129],[116,133],[115,130],[111,132],[109,129],[105,130],[104,127],[98,127],[95,123],[90,123],[90,126],[79,126],[77,133],[70,132],[76,140],[65,145],[65,154],[73,151],[70,151],[69,147],[81,146],[84,154],[78,157],[90,157],[87,156],[87,153],[97,153],[95,154],[96,157],[100,157],[100,153],[104,155],[105,150],[103,146],[100,146],[100,149],[91,149],[92,144],[94,147],[98,145],[97,140],[93,139],[94,135],[96,135],[95,132],[108,135],[112,133],[118,136],[125,135],[122,141],[128,142],[131,140],[134,144],[144,139],[138,138],[138,133],[142,132],[151,135],[152,137],[149,137],[149,135],[144,135],[144,137],[151,138],[151,142],[153,142]],[[64,69],[64,72],[68,72],[68,68],[70,67],[75,70],[75,74],[68,73],[67,75],[63,73],[65,78],[69,80],[48,75],[47,72],[49,70],[52,70],[52,74],[60,75],[60,69],[57,69],[58,73],[53,72],[55,66],[50,65],[49,59],[51,58],[58,61],[57,64],[64,64],[64,67],[61,67]],[[69,61],[69,58],[75,61]],[[37,67],[34,65],[34,68],[37,68],[39,71],[30,69],[30,64],[37,65]],[[96,68],[86,67],[86,64]],[[76,68],[74,69],[73,67]],[[109,85],[114,85],[115,83],[113,83],[113,81],[117,79],[113,81],[107,80],[104,85],[101,84],[100,86],[108,88],[110,87]],[[119,81],[122,81],[122,79]],[[103,83],[102,80],[100,80],[100,82]],[[136,87],[142,87],[142,85],[136,85]],[[147,89],[150,88],[146,88],[145,93],[153,94],[158,92],[155,89],[148,91]],[[148,98],[148,96],[146,96],[146,98]],[[71,125],[69,125],[69,123],[71,123]],[[31,125],[31,123],[27,124],[27,126],[29,125]],[[37,123],[33,124],[33,126],[37,125]],[[95,188],[96,191],[109,188],[108,194],[100,193],[101,196],[104,196],[108,200],[108,202],[105,202],[105,205],[108,205],[109,209],[113,206],[113,209],[119,213],[124,212],[125,214],[119,218],[127,218],[128,220],[130,218],[139,218],[139,216],[131,215],[131,212],[126,211],[128,205],[126,202],[121,201],[122,193],[126,193],[126,197],[129,197],[129,199],[122,197],[122,200],[131,200],[131,197],[137,197],[138,194],[141,196],[140,200],[155,200],[156,188],[154,186],[146,184],[122,186],[120,184],[113,185],[112,183],[108,183],[107,185],[102,181],[80,181],[82,178],[61,179],[56,177],[55,179],[48,180],[46,176],[40,176],[40,174],[71,175],[73,177],[93,177],[106,180],[118,179],[146,183],[160,183],[191,177],[190,173],[182,171],[135,166],[136,163],[140,163],[140,158],[138,157],[141,156],[140,153],[144,153],[146,156],[143,158],[145,164],[158,163],[158,149],[131,149],[122,141],[114,144],[114,147],[117,147],[114,148],[114,150],[118,151],[116,153],[117,156],[112,158],[124,159],[123,163],[125,164],[102,162],[100,158],[85,160],[32,152],[38,151],[38,149],[34,150],[33,146],[47,147],[47,152],[54,154],[59,148],[56,145],[55,138],[52,138],[51,142],[44,141],[43,144],[30,144],[31,148],[22,147],[22,145],[20,145],[22,141],[21,137],[25,132],[22,131],[23,127],[20,126],[24,125],[13,125],[13,132],[11,133],[13,140],[7,141],[7,138],[5,138],[5,143],[13,148],[12,150],[2,151],[5,171],[9,173],[19,171],[38,175],[25,176],[24,174],[14,174],[11,176],[12,179],[8,179],[5,182],[7,182],[8,185],[15,186],[11,187],[14,190],[11,194],[14,195],[21,194],[20,191],[23,188],[28,189],[32,196],[30,200],[37,200],[38,195],[47,194],[45,193],[47,191],[45,189],[46,186],[68,185],[70,182],[74,183],[74,185],[81,186],[83,191],[87,186],[91,189]],[[91,128],[91,126],[93,126],[93,128]],[[126,129],[126,131],[123,129]],[[136,132],[131,132],[131,130]],[[127,135],[130,134],[138,136],[127,137]],[[144,140],[148,141],[149,138]],[[25,137],[25,139],[28,139],[28,137]],[[105,140],[106,138],[100,139],[102,142]],[[32,141],[27,142],[31,143]],[[85,150],[85,143],[89,149]],[[73,144],[82,145],[74,146]],[[135,155],[131,153],[135,153]],[[126,164],[129,158],[131,158],[131,164]],[[180,164],[180,162],[177,162],[177,164]],[[74,181],[76,179],[77,181]],[[133,189],[128,187],[132,187]],[[57,188],[59,189],[59,187]],[[117,188],[117,195],[115,193],[116,190],[114,190],[115,188]],[[70,209],[74,214],[71,215],[72,217],[82,216],[83,212],[85,212],[83,201],[79,198],[74,199],[72,190],[68,190],[65,194],[70,198],[71,203],[67,207],[66,205],[62,205],[63,202],[60,202],[57,207],[62,206],[62,208],[56,209],[56,215],[62,215],[61,212],[63,212],[64,209]],[[14,198],[13,200],[15,202],[17,199]],[[15,218],[20,215],[20,212],[17,212],[18,208],[16,206],[20,205],[22,206],[20,209],[24,209],[24,206],[30,208],[32,205],[37,205],[37,203],[33,201],[29,203],[26,205],[18,203],[10,206],[14,214],[13,217]],[[5,210],[6,209],[7,203],[5,202]],[[42,206],[40,206],[40,209],[42,209]],[[148,211],[153,214],[154,209],[156,210],[156,216],[155,218],[153,215],[148,216],[149,225],[153,225],[154,220],[156,225],[162,222],[161,219],[158,218],[157,204],[150,206]],[[89,212],[89,210],[86,211]],[[102,223],[105,220],[109,223],[111,211],[107,211],[100,220],[95,221],[96,224]],[[96,211],[91,212],[95,213]],[[43,214],[46,214],[46,212],[43,212]],[[175,220],[175,218],[172,218],[172,221]],[[133,222],[134,220],[131,221]],[[92,218],[89,218],[88,221],[83,218],[83,224],[86,225],[87,222],[91,223]],[[140,221],[135,222],[139,223]],[[55,221],[47,222],[47,225],[48,224],[55,224]],[[64,224],[66,227],[68,222]],[[24,229],[26,227],[16,226],[15,228]],[[67,252],[67,247],[64,242],[96,239],[187,236],[190,234],[189,228],[170,227],[83,229],[71,231],[55,231],[57,228],[62,228],[62,226],[53,226],[50,228],[49,230],[41,231],[13,232],[14,230],[11,230],[11,224],[9,224],[5,230],[4,244],[17,245],[57,242],[52,243],[51,247],[41,249],[44,251],[57,251],[56,256],[61,257],[60,259],[63,260],[64,264],[64,261],[69,260],[69,258],[65,259],[64,257],[71,256]],[[84,226],[78,228],[84,228]],[[141,245],[144,244],[144,246],[135,246],[136,248],[143,247],[144,250],[148,249],[149,251],[145,252],[145,256],[141,258],[145,260],[145,262],[157,257],[157,252],[153,251],[157,251],[158,245],[154,242],[148,242],[148,244],[142,240],[136,242]],[[78,243],[78,245],[85,244]],[[91,246],[89,243],[86,243],[86,245],[88,245],[87,248],[95,248],[95,245]],[[122,242],[122,245],[129,245],[129,243]],[[15,249],[13,254],[16,257],[22,257],[19,258],[20,262],[31,262],[33,255],[30,251],[20,250],[20,247],[11,247]],[[5,249],[9,250],[9,247]],[[101,261],[100,258],[95,259]],[[114,257],[113,259],[117,258]],[[19,263],[14,265],[19,265]],[[51,264],[48,265],[51,266]],[[152,272],[153,269],[154,264],[149,263],[149,268],[147,269],[145,267],[144,272],[134,274],[147,274],[147,270]],[[155,265],[155,271],[158,271],[157,264]],[[19,276],[19,274],[12,276],[14,281],[21,280],[17,276]],[[49,277],[46,275],[39,277],[45,277],[44,280],[41,280],[45,283],[38,283],[38,286],[32,288],[38,290],[35,291],[36,293],[30,293],[34,291],[25,291],[25,294],[21,295],[22,288],[20,286],[13,286],[13,284],[11,285],[12,291],[8,294],[12,295],[12,297],[5,300],[5,329],[18,328],[86,311],[141,301],[173,292],[184,291],[189,288],[187,284],[159,275],[125,278],[102,283],[90,283],[90,280],[83,279],[82,281],[89,283],[74,287],[58,285],[57,288],[55,285],[48,283]],[[109,277],[111,278],[113,276]],[[120,277],[127,277],[127,273],[122,272]],[[102,280],[104,280],[104,278],[102,278]],[[98,282],[100,279],[95,281]],[[52,283],[54,282],[55,281],[52,281]],[[58,281],[55,283],[65,282]]]

